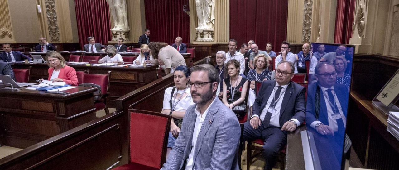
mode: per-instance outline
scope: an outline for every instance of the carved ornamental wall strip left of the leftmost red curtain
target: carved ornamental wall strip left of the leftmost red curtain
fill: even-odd
[[[51,41],[60,41],[57,24],[57,12],[55,11],[55,0],[45,0],[47,22]]]

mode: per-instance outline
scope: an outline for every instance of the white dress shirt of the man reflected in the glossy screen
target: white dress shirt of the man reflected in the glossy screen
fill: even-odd
[[[332,114],[334,114],[334,112],[332,111],[331,105],[328,103],[328,101],[329,101],[328,93],[327,93],[328,89],[332,89],[331,93],[334,95],[335,104],[338,107],[338,111],[341,114],[341,118],[342,118],[342,121],[344,122],[344,126],[345,127],[346,127],[346,117],[344,115],[344,112],[342,111],[342,107],[341,107],[340,101],[338,100],[337,95],[335,95],[334,86],[332,86],[331,88],[325,88],[325,87],[321,87],[320,86],[320,90],[322,90],[322,93],[324,95],[324,101],[326,101],[325,104],[327,106],[328,126],[330,126],[333,131],[338,131],[337,121],[332,118]],[[320,104],[322,104],[322,103],[320,103]],[[320,113],[320,114],[323,114],[323,113]],[[310,126],[314,128],[316,126],[316,124],[318,124],[318,123],[322,123],[322,122],[316,120],[316,121],[312,122],[312,124],[310,124]]]

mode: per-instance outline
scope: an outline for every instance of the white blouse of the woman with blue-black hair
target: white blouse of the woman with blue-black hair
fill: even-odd
[[[170,100],[170,94],[172,93],[172,89],[173,89],[173,87],[169,87],[168,89],[165,90],[164,105],[163,105],[162,110],[171,109],[169,100]],[[186,97],[184,97],[184,98],[180,99],[180,101],[178,101],[180,96],[176,99],[175,98],[175,96],[176,96],[175,94],[176,93],[179,93],[180,95],[182,95],[182,93],[187,93],[187,95],[186,95]],[[176,107],[174,108],[174,111],[176,111],[176,112],[185,112],[187,110],[188,106],[190,106],[192,104],[194,104],[194,102],[193,102],[193,99],[191,97],[190,88],[186,88],[185,91],[183,91],[183,90],[179,90],[178,91],[177,88],[175,89],[174,95],[173,95],[173,98],[172,98],[172,106],[176,105]]]

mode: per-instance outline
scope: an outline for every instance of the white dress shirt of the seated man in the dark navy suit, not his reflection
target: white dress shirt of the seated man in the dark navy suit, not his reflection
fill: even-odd
[[[273,97],[274,97],[274,95],[275,95],[275,92],[276,92],[277,89],[278,89],[278,88],[277,88],[278,85],[279,85],[279,84],[276,82],[276,85],[275,85],[275,87],[274,87],[274,89],[273,89],[273,93],[270,94],[269,99],[267,100],[266,106],[265,106],[265,108],[263,108],[263,110],[262,110],[261,116],[258,116],[258,115],[255,115],[255,114],[254,114],[251,118],[253,118],[254,116],[256,116],[256,117],[259,117],[259,119],[261,119],[261,121],[263,121],[263,120],[265,119],[267,110],[269,109],[269,106],[271,105],[271,102],[272,102],[272,100],[273,100]],[[282,89],[281,89],[281,91],[280,91],[280,97],[279,97],[279,99],[277,99],[277,103],[276,103],[276,106],[275,106],[275,109],[277,110],[277,111],[276,111],[276,114],[272,114],[272,116],[271,116],[271,118],[270,118],[270,125],[272,125],[272,126],[280,127],[279,120],[280,120],[281,103],[282,103],[282,99],[284,99],[284,94],[285,94],[285,91],[286,91],[288,85],[289,85],[289,84],[287,84],[287,85],[282,85],[282,86],[281,86]],[[299,122],[297,119],[292,118],[291,120],[294,120],[294,121],[296,122],[296,125],[297,125],[297,126],[300,125],[300,122]],[[291,120],[290,120],[290,121],[291,121]]]

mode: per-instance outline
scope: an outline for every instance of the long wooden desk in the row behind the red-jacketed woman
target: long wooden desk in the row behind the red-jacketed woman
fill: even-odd
[[[31,83],[36,83],[37,79],[48,78],[47,64],[25,64],[14,63],[11,64],[12,68],[28,69],[30,70]],[[130,93],[154,80],[157,79],[156,68],[158,66],[152,65],[147,67],[122,67],[122,66],[86,66],[86,65],[73,65],[68,64],[75,68],[76,71],[89,70],[91,74],[107,74],[111,71],[109,97],[107,106],[115,108],[115,99]]]

